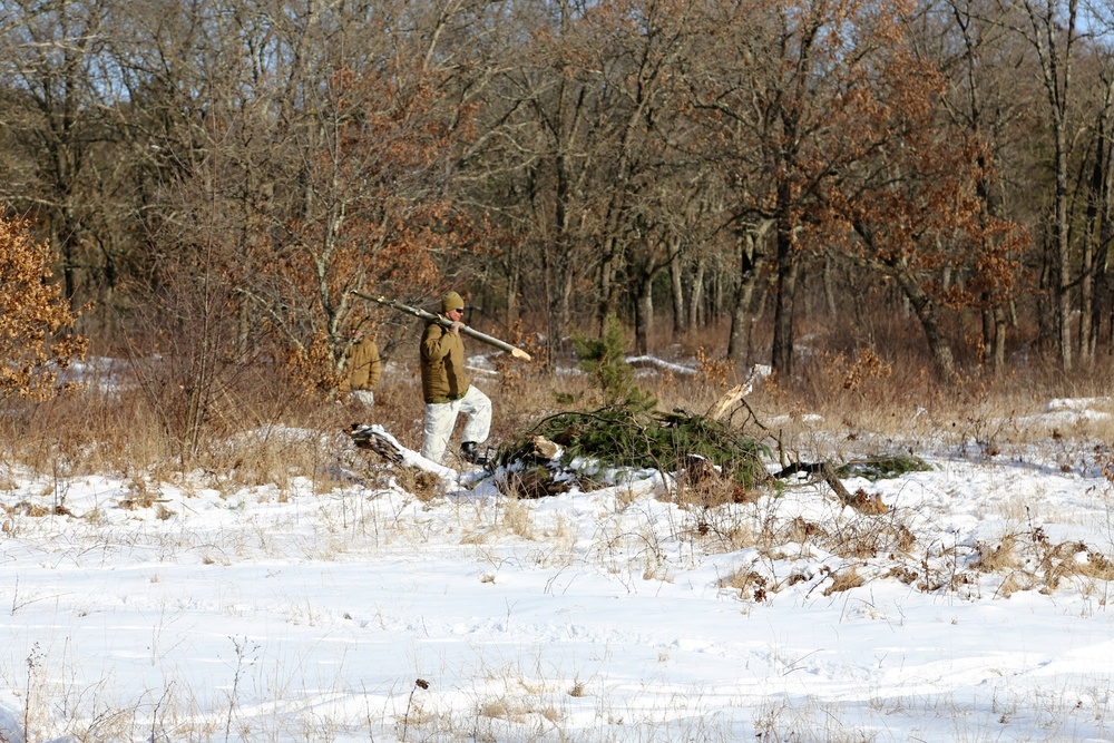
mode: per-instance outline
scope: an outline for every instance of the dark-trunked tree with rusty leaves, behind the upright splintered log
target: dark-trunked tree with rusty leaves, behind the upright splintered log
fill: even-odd
[[[770,225],[772,365],[789,377],[800,270],[810,248],[802,228],[822,217],[823,192],[879,144],[867,141],[857,123],[871,98],[877,52],[896,38],[896,11],[858,0],[753,0],[713,11],[702,33],[701,75],[692,76],[693,106],[709,141],[724,143],[710,154],[732,168],[736,223],[744,233],[745,225]]]

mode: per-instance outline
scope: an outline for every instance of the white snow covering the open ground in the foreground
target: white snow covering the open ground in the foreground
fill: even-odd
[[[686,509],[649,471],[516,501],[444,468],[421,500],[333,446],[328,492],[197,472],[130,509],[133,480],[0,472],[0,740],[1114,739],[1091,444],[844,481],[881,516],[823,483]]]

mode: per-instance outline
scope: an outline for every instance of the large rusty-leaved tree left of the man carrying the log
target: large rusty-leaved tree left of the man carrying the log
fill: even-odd
[[[168,6],[135,27],[137,143],[166,153],[146,170],[155,222],[215,228],[241,326],[271,329],[324,389],[370,313],[353,291],[420,296],[469,246],[447,196],[469,129],[439,68],[446,8]]]

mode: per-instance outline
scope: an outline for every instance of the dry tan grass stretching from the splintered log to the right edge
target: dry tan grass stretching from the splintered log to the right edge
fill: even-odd
[[[902,355],[900,348],[825,350],[801,361],[792,384],[771,380],[747,401],[785,450],[820,450],[837,460],[849,450],[887,453],[880,447],[895,443],[910,454],[942,443],[986,459],[1039,446],[1056,452],[1068,471],[1081,466],[1093,442],[1114,439],[1114,371],[1105,365],[1071,379],[1038,365],[941,384],[920,359],[916,352]],[[1079,398],[1107,417],[1049,411],[1049,401]],[[1048,412],[1056,412],[1055,422]]]

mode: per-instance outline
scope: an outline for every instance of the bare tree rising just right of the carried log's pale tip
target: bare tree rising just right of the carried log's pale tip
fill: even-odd
[[[531,267],[527,297],[545,319],[548,363],[567,335],[574,297],[599,265],[606,202],[603,170],[614,153],[612,100],[599,49],[589,43],[589,9],[577,2],[521,12],[505,25],[518,37],[498,59],[482,96],[489,130],[463,168],[472,198],[521,246]],[[528,39],[525,45],[521,40]],[[529,299],[528,299],[529,301]]]

